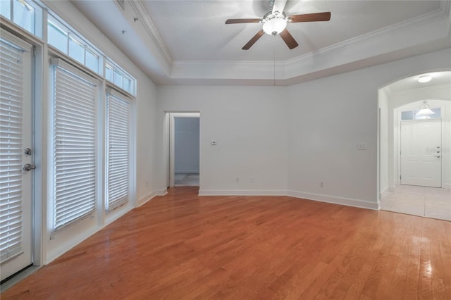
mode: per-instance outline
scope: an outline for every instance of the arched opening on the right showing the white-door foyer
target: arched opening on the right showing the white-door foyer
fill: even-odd
[[[428,74],[435,82],[423,85],[419,74],[378,91],[378,201],[384,210],[451,220],[451,72]],[[416,116],[424,101],[435,115]]]

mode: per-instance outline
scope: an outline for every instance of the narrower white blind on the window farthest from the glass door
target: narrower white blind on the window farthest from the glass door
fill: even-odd
[[[108,94],[106,115],[106,210],[128,202],[130,186],[130,101]]]

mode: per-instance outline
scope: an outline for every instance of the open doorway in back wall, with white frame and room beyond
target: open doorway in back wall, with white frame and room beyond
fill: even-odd
[[[170,113],[169,187],[200,185],[200,114]]]

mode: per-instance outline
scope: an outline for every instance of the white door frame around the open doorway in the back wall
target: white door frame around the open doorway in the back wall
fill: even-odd
[[[166,112],[166,127],[167,127],[167,158],[166,161],[166,187],[171,188],[175,185],[175,118],[199,118],[200,123],[200,112]],[[199,137],[200,137],[200,126],[199,126]],[[199,151],[200,152],[200,151]],[[200,156],[200,153],[199,153]],[[199,160],[199,175],[201,170],[201,161]],[[200,181],[199,181],[200,186]]]

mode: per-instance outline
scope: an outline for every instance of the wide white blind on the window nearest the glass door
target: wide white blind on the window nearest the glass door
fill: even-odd
[[[95,210],[97,85],[54,66],[54,230]]]

